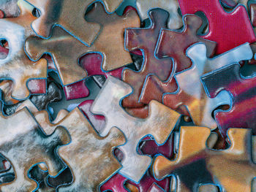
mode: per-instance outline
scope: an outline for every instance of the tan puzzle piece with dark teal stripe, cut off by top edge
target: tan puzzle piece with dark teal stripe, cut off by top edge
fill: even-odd
[[[41,37],[49,37],[53,26],[61,26],[77,39],[91,45],[99,33],[98,23],[89,23],[84,18],[86,9],[94,0],[28,0],[37,7],[42,15],[31,24],[32,28]],[[122,0],[103,0],[108,12],[114,12]]]

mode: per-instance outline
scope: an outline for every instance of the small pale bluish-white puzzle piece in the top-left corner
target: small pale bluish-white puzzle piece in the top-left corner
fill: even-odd
[[[0,10],[4,18],[16,18],[20,14],[17,6],[18,0],[2,0],[0,3]]]

